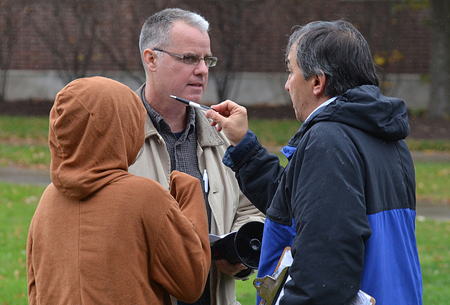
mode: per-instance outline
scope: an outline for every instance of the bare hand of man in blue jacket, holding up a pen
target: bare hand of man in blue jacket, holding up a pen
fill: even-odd
[[[225,100],[219,105],[212,105],[211,108],[217,111],[208,110],[206,112],[206,118],[213,120],[211,126],[217,125],[217,131],[224,130],[231,145],[236,146],[249,130],[246,108],[231,100]]]

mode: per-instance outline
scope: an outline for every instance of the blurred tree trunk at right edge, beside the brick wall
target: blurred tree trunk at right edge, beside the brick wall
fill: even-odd
[[[431,94],[428,112],[450,117],[450,1],[431,0]]]

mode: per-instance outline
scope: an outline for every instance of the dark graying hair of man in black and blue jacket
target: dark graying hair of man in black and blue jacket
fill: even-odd
[[[294,44],[302,76],[309,80],[325,75],[324,94],[328,96],[357,86],[379,85],[369,44],[348,21],[314,21],[299,26],[289,38],[286,60]]]

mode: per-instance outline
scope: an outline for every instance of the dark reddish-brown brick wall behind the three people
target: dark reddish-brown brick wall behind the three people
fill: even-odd
[[[142,71],[138,40],[146,17],[165,7],[180,7],[210,22],[211,51],[219,57],[217,71],[283,72],[293,26],[344,18],[366,37],[381,71],[429,73],[429,9],[404,1],[22,0],[16,4],[20,5],[14,13],[18,36],[10,69]]]

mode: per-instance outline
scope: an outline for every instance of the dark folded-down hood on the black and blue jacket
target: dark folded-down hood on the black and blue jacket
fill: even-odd
[[[321,121],[349,125],[382,140],[398,141],[409,135],[404,101],[384,96],[378,87],[371,85],[359,86],[340,95],[312,120],[302,124],[289,145],[296,147],[304,133]]]

